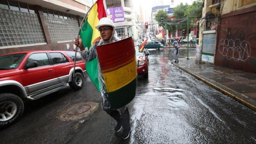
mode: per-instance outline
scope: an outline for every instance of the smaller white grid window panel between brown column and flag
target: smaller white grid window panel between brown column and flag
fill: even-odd
[[[78,21],[49,16],[45,16],[45,20],[52,42],[74,40],[77,37]]]

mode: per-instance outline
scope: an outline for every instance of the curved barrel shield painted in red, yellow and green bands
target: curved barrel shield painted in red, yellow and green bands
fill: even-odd
[[[96,46],[111,110],[125,106],[135,97],[137,66],[131,37]]]

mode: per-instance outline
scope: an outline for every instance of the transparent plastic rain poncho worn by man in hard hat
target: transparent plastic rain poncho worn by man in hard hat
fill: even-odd
[[[101,36],[100,36],[101,37]],[[98,45],[104,45],[104,44],[108,44],[111,42],[116,42],[119,41],[120,38],[117,37],[117,32],[115,31],[115,29],[113,29],[113,34],[110,38],[109,41],[104,41],[101,37],[101,39],[97,42],[95,42],[90,49],[81,51],[83,58],[85,59],[85,61],[92,61],[94,58],[98,59],[98,54],[96,51],[96,46]],[[99,70],[99,87],[100,87],[100,94],[101,94],[101,107],[104,109],[104,111],[109,111],[110,110],[110,104],[108,101],[108,93],[106,91],[106,86],[104,83],[104,79],[103,79],[103,75],[101,72],[101,68],[99,65],[99,61],[98,61],[98,70]],[[126,105],[121,107],[120,109],[118,109],[119,112],[124,113],[125,109],[126,109]]]

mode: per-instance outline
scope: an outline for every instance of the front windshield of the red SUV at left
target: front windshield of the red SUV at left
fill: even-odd
[[[0,70],[15,69],[19,66],[26,54],[11,54],[0,57]]]

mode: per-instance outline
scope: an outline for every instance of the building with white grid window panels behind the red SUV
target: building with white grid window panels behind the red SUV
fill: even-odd
[[[74,50],[89,0],[1,0],[0,56],[29,50]]]

